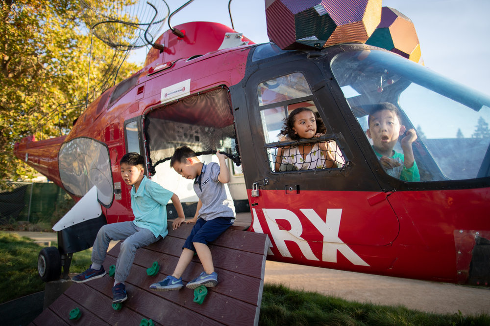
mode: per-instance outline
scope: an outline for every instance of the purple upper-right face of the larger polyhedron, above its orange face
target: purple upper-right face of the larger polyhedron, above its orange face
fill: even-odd
[[[322,0],[321,5],[339,26],[362,21],[368,2],[369,0]]]

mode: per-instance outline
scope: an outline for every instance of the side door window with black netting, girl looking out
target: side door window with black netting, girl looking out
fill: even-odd
[[[342,168],[343,153],[323,124],[303,74],[296,72],[259,84],[260,119],[271,171]],[[304,99],[299,100],[298,99]],[[304,130],[285,128],[291,114]]]

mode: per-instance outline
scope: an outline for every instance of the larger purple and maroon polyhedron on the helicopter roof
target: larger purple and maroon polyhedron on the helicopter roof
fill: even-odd
[[[381,0],[266,0],[266,20],[283,50],[365,43],[381,21]]]

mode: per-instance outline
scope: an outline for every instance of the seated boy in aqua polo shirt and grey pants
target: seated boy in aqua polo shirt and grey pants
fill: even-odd
[[[111,240],[124,240],[116,261],[116,274],[112,288],[113,303],[127,299],[124,281],[129,275],[136,249],[165,238],[167,208],[172,200],[177,215],[185,219],[179,197],[145,176],[145,159],[138,153],[127,153],[121,159],[121,176],[131,188],[131,208],[134,221],[106,224],[100,228],[92,251],[92,265],[72,278],[75,283],[98,279],[106,274],[102,263]]]

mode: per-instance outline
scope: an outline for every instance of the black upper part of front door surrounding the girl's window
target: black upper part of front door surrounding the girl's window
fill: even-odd
[[[325,55],[321,52],[312,54],[291,51],[255,62],[251,61],[252,55],[253,53],[249,54],[244,80],[230,87],[246,188],[251,189],[253,182],[267,177],[270,183],[261,189],[284,190],[286,185],[300,184],[302,190],[380,191],[376,178],[340,112],[341,107],[348,108],[343,95],[334,98],[325,82],[327,76],[322,69]],[[306,170],[289,173],[270,170],[256,89],[263,81],[293,72],[305,75],[312,88],[311,99],[319,109],[323,121],[342,141],[343,151],[349,161],[342,170]]]

